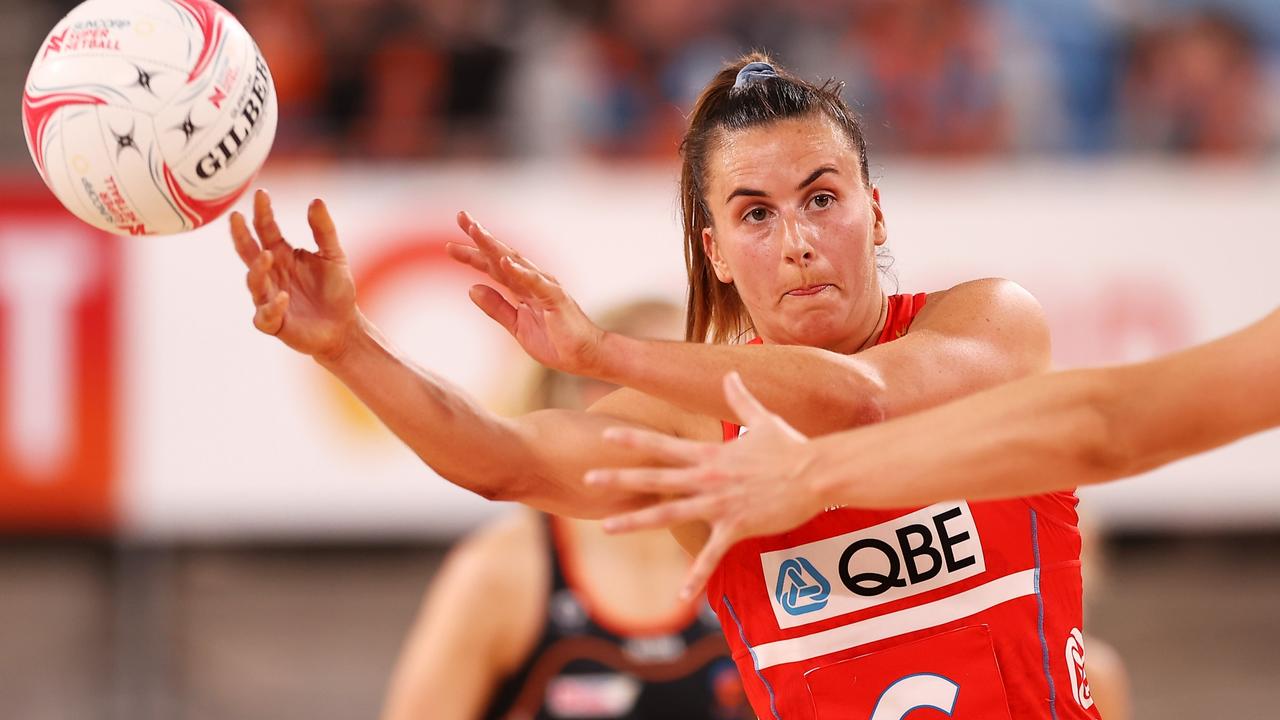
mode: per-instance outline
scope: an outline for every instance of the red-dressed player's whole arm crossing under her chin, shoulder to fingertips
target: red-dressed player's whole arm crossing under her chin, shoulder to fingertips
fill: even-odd
[[[498,241],[468,214],[471,243],[449,254],[503,286],[471,299],[539,363],[660,397],[691,413],[739,420],[718,378],[737,372],[800,430],[822,434],[932,407],[1039,373],[1048,332],[1039,305],[1016,284],[987,279],[933,293],[905,337],[856,355],[800,346],[660,342],[605,333],[554,277]]]

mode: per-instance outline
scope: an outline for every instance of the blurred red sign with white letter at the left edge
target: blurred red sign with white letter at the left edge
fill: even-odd
[[[0,187],[0,530],[115,524],[119,242]]]

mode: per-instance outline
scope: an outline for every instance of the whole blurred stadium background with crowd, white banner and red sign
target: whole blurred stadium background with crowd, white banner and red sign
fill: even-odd
[[[72,5],[0,0],[0,716],[371,716],[440,553],[502,510],[252,331],[220,223],[120,240],[58,209],[17,99]],[[375,320],[497,407],[527,365],[443,260],[453,211],[588,311],[681,300],[681,113],[749,47],[849,81],[891,287],[1014,278],[1059,366],[1280,299],[1270,0],[227,5],[275,74],[287,234],[326,197]],[[1108,547],[1089,629],[1138,717],[1274,716],[1277,480],[1271,433],[1082,493]]]

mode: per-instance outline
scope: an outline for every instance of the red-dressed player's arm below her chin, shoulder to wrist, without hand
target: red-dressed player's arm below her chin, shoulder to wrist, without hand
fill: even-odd
[[[717,418],[736,413],[730,372],[792,427],[845,430],[941,405],[1048,368],[1039,304],[1000,279],[933,293],[911,332],[855,355],[801,346],[727,346],[609,336],[600,375]]]

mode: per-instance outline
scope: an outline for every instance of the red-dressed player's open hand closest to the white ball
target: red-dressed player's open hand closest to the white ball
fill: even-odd
[[[265,191],[253,195],[255,238],[244,217],[232,213],[236,254],[248,268],[253,327],[317,360],[339,356],[358,328],[356,283],[324,201],[307,208],[316,251],[292,247],[280,236]]]

